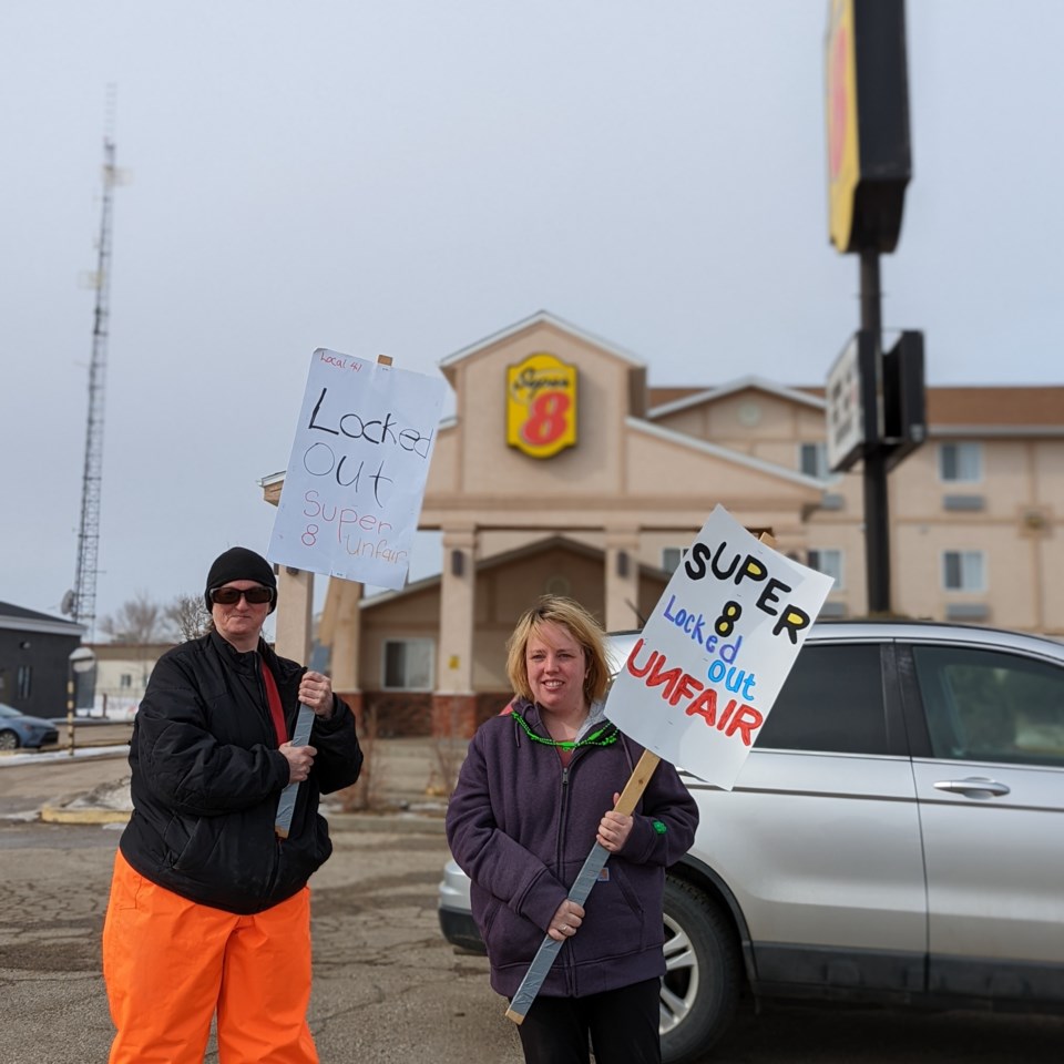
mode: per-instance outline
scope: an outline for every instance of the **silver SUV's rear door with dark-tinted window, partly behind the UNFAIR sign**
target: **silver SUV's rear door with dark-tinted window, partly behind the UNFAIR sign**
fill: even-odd
[[[734,790],[702,802],[698,849],[741,884],[764,982],[923,989],[923,859],[891,653],[807,643]]]

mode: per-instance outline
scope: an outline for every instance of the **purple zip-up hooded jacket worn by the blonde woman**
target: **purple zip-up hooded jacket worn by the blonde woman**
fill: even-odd
[[[549,738],[536,706],[513,703]],[[488,947],[491,985],[512,998],[551,918],[565,900],[598,821],[624,790],[643,747],[608,725],[603,746],[557,750],[529,738],[510,714],[480,726],[447,810],[447,838],[471,880],[473,918]],[[540,993],[583,998],[665,974],[665,869],[690,847],[698,808],[662,761],[636,806],[632,833],[613,853]]]

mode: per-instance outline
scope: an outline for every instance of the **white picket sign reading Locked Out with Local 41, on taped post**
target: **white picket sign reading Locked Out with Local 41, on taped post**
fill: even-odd
[[[398,591],[407,579],[428,479],[443,381],[318,348],[267,557],[306,572]],[[313,710],[299,706],[293,745],[306,746]],[[298,784],[280,796],[287,838]]]

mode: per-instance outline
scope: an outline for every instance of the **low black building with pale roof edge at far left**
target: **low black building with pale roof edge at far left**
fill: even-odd
[[[0,602],[0,702],[45,719],[66,713],[69,659],[84,626]]]

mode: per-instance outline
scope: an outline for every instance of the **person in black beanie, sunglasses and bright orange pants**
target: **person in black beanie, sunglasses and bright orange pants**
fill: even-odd
[[[307,880],[331,852],[318,796],[361,767],[355,719],[328,677],[263,640],[277,604],[264,557],[226,551],[205,597],[212,631],[158,659],[133,726],[133,816],[103,929],[110,1062],[198,1064],[217,1015],[222,1061],[313,1064]],[[300,703],[314,727],[293,746]]]

